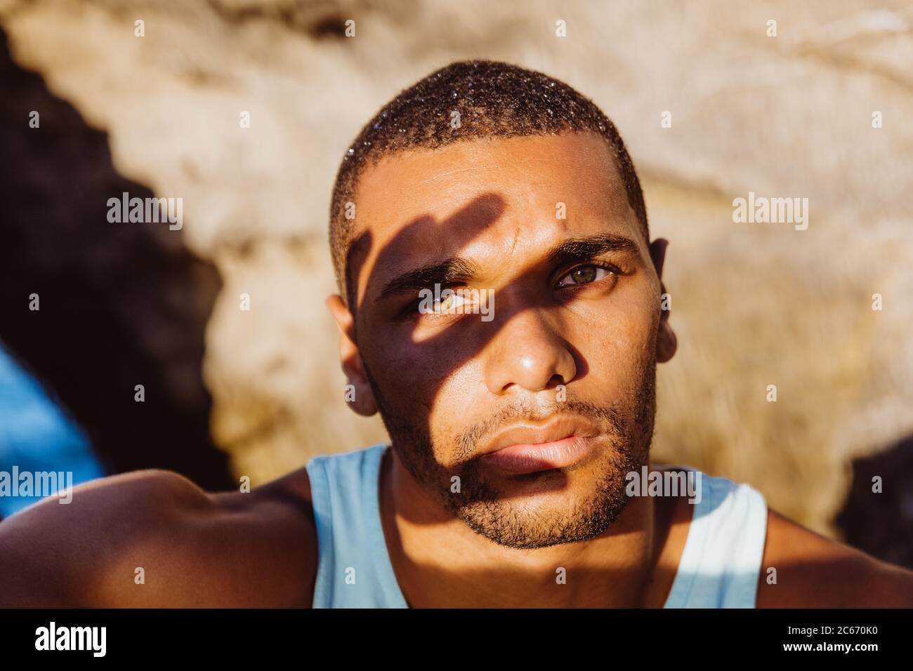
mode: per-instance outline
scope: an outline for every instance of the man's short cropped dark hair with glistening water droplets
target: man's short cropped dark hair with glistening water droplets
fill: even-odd
[[[458,128],[450,123],[455,110],[460,114]],[[346,204],[354,202],[359,176],[369,165],[414,149],[573,131],[602,135],[621,173],[628,204],[649,242],[644,194],[634,163],[614,123],[593,100],[541,72],[491,60],[459,61],[436,70],[384,105],[342,157],[330,204],[330,249],[343,300],[354,309],[348,265],[357,233],[355,219],[345,216]]]

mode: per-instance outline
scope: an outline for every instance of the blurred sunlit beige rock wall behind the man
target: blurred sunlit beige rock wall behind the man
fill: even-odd
[[[911,24],[905,2],[830,0],[0,1],[16,62],[109,133],[123,176],[184,198],[184,245],[223,281],[205,383],[236,474],[383,438],[342,401],[323,307],[332,179],[399,89],[498,58],[603,107],[671,242],[657,458],[750,482],[829,534],[852,460],[913,434]],[[749,192],[807,197],[807,230],[734,224]]]

